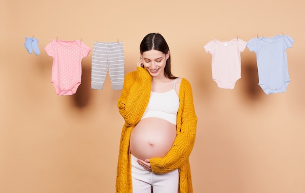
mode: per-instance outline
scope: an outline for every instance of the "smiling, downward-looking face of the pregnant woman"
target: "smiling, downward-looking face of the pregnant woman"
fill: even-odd
[[[167,54],[157,50],[146,51],[141,54],[144,68],[152,75],[152,77],[165,76],[164,68],[166,60],[170,57],[170,52]]]

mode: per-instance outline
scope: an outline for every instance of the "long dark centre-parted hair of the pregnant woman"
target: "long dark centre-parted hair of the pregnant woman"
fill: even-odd
[[[141,44],[140,44],[140,52],[141,54],[150,51],[157,50],[164,54],[167,54],[170,51],[168,44],[166,43],[164,37],[161,34],[151,33],[146,35]],[[172,75],[171,71],[171,54],[170,57],[166,60],[166,65],[164,68],[164,75],[169,79],[175,79],[177,77]]]

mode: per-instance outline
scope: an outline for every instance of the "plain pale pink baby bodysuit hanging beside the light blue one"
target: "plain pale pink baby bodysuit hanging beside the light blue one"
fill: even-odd
[[[219,88],[233,89],[241,78],[240,53],[246,45],[242,39],[234,38],[230,41],[214,39],[204,46],[206,52],[212,54],[212,80]]]

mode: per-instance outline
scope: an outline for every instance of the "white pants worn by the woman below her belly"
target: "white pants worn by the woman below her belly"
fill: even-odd
[[[153,193],[178,193],[178,169],[166,174],[154,174],[140,166],[133,155],[131,157],[133,193],[151,193],[151,187]]]

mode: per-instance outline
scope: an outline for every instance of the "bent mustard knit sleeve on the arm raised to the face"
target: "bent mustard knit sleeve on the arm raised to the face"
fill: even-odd
[[[117,106],[128,126],[140,121],[150,98],[151,84],[150,74],[141,67],[126,75]]]

